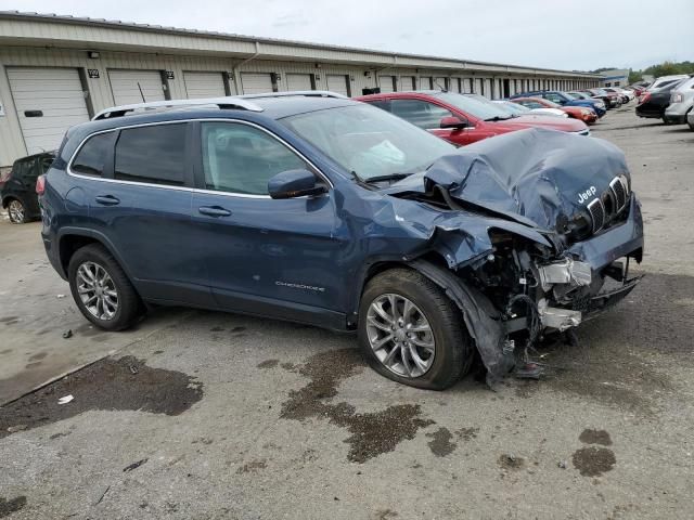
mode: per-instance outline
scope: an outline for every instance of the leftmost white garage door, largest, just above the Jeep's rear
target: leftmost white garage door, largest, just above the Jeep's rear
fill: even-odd
[[[29,155],[57,148],[69,127],[89,120],[77,69],[8,67],[7,70]]]

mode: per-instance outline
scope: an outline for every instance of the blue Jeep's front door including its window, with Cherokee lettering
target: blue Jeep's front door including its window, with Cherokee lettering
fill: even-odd
[[[218,304],[344,326],[342,243],[334,236],[332,192],[270,198],[270,178],[311,167],[260,127],[203,121],[196,133],[202,190],[193,195],[193,221]]]

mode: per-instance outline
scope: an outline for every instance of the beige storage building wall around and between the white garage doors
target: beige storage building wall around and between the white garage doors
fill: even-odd
[[[317,90],[327,90],[327,75],[344,75],[349,78],[350,95],[360,95],[363,89],[377,87],[380,76],[395,76],[396,90],[411,90],[407,82],[409,78],[420,77],[447,78],[449,90],[458,92],[461,86],[463,92],[477,92],[484,84],[484,94],[488,98],[503,95],[503,80],[510,79],[510,93],[529,88],[549,88],[549,81],[558,84],[560,78],[540,78],[535,74],[498,74],[486,70],[450,70],[432,66],[432,68],[412,68],[403,66],[375,67],[373,65],[349,63],[345,56],[340,56],[339,63],[320,63],[317,66],[314,60],[265,60],[256,58],[243,63],[237,56],[221,57],[210,55],[183,55],[163,54],[136,51],[108,51],[100,50],[98,58],[90,58],[87,51],[59,50],[39,47],[0,47],[0,103],[4,107],[4,116],[0,116],[0,167],[11,165],[18,157],[27,155],[24,136],[20,127],[16,109],[12,99],[7,67],[69,67],[81,70],[87,104],[93,113],[114,105],[114,96],[111,89],[107,72],[110,69],[147,69],[172,72],[172,79],[166,81],[168,99],[187,98],[184,84],[184,72],[217,72],[224,74],[228,91],[231,94],[241,94],[241,73],[268,73],[275,74],[277,90],[286,91],[287,74],[311,74]],[[267,50],[267,48],[266,48]],[[279,51],[278,51],[279,52]],[[347,53],[348,54],[348,53]],[[240,65],[241,64],[241,65]],[[480,65],[480,67],[483,67]],[[99,70],[99,78],[90,78],[88,69]],[[549,73],[548,73],[549,74]],[[471,84],[471,79],[472,84]],[[481,81],[479,81],[481,80]],[[517,80],[517,88],[514,80]],[[582,88],[596,86],[597,79],[576,78],[561,79],[563,88]],[[534,87],[534,84],[536,87]]]

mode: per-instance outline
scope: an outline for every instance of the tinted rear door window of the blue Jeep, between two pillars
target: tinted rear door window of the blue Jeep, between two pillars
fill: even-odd
[[[120,131],[114,179],[153,184],[185,184],[187,123],[153,125]]]

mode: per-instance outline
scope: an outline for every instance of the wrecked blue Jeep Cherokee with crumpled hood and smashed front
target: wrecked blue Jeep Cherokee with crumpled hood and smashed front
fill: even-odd
[[[543,330],[627,295],[640,207],[624,154],[523,130],[457,150],[330,93],[115,107],[39,182],[48,257],[98,327],[146,304],[358,332],[396,381],[492,380]],[[621,259],[621,261],[619,260]]]

